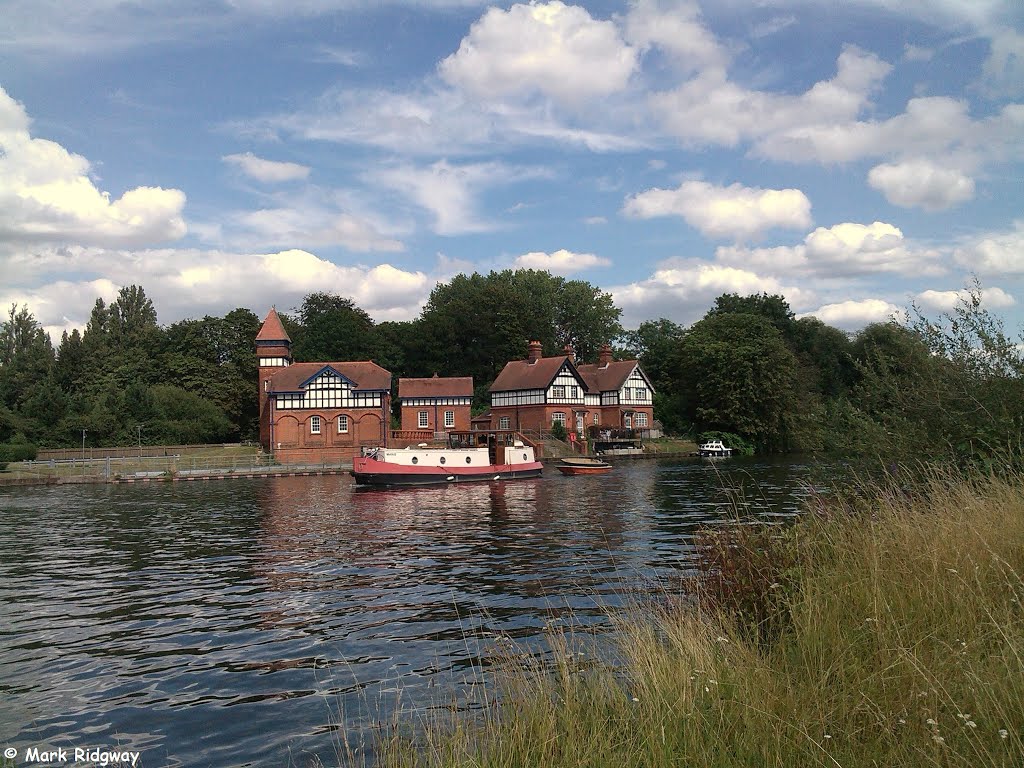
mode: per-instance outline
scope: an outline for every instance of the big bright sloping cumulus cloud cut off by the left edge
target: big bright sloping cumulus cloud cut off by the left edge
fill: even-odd
[[[30,133],[25,108],[0,88],[0,234],[36,243],[144,245],[185,233],[179,189],[138,186],[117,200],[89,162]]]

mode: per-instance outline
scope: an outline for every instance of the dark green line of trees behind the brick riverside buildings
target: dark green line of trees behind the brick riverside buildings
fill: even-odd
[[[1021,446],[1021,345],[975,286],[953,311],[847,334],[797,318],[781,296],[720,296],[685,328],[624,331],[609,294],[520,269],[460,274],[420,315],[374,323],[351,299],[313,293],[279,311],[296,360],[373,359],[408,376],[472,376],[476,410],[504,365],[540,340],[593,361],[611,342],[638,358],[667,432],[724,432],[761,452],[955,455],[990,461]],[[53,347],[25,307],[0,326],[0,442],[46,446],[255,439],[260,318],[247,308],[163,327],[144,290],[97,299],[85,331]]]

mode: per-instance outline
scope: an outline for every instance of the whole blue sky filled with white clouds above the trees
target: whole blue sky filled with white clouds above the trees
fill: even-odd
[[[781,294],[845,330],[975,280],[1024,323],[1017,0],[0,0],[0,304],[58,342],[460,272],[627,328]]]

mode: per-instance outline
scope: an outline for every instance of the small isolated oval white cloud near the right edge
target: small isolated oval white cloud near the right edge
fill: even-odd
[[[974,179],[928,160],[877,165],[867,183],[901,208],[942,211],[974,198]]]

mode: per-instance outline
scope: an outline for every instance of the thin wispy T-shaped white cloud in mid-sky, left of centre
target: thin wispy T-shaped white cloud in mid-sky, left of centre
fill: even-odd
[[[367,174],[368,180],[394,189],[434,216],[438,234],[490,231],[497,223],[480,212],[477,196],[488,186],[540,178],[548,172],[516,168],[502,163],[453,165],[438,161],[430,166],[383,168]]]

